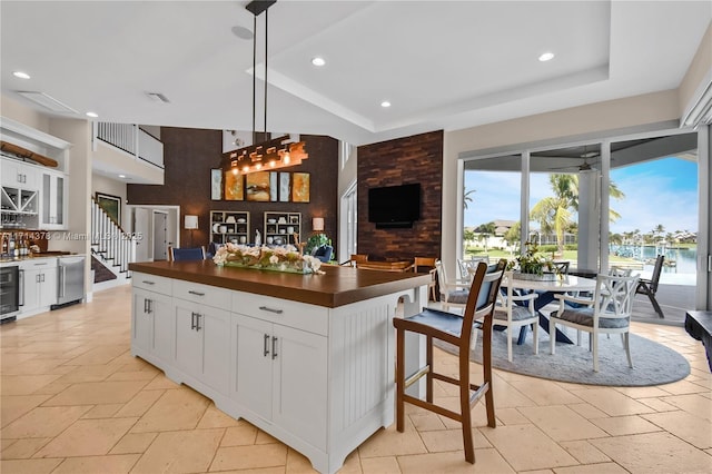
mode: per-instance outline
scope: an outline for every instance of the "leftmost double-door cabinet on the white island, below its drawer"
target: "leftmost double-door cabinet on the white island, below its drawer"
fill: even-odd
[[[160,293],[134,288],[131,346],[166,362],[174,357],[172,299]]]

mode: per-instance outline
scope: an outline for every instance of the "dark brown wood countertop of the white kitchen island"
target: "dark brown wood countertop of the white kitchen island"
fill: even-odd
[[[219,267],[212,260],[129,264],[131,271],[335,308],[427,285],[431,276],[323,265],[324,275]]]

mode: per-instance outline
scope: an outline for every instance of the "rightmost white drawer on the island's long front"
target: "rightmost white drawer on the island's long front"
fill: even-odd
[[[329,310],[323,306],[234,292],[233,312],[322,336],[328,335]]]

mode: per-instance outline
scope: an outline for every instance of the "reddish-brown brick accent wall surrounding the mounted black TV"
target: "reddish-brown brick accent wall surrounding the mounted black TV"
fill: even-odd
[[[439,257],[443,130],[358,147],[359,254],[369,259]],[[413,228],[377,229],[368,221],[368,189],[421,184],[421,220]]]

